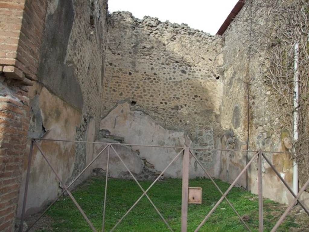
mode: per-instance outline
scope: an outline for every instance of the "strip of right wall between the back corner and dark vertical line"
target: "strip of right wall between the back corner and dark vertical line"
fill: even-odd
[[[221,127],[223,149],[247,149],[247,82],[248,82],[248,34],[241,28],[248,19],[246,7],[237,15],[224,36],[223,99],[221,105]],[[241,18],[241,20],[239,19]],[[246,165],[246,153],[222,152],[220,178],[232,182]],[[246,187],[246,175],[238,182]]]

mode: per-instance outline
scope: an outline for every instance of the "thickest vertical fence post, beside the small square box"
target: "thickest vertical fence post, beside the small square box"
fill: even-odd
[[[188,191],[189,191],[189,153],[188,147],[184,148],[182,162],[182,200],[181,200],[181,232],[187,232],[188,219]]]

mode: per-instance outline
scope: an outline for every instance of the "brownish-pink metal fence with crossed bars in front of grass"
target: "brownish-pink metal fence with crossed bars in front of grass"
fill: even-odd
[[[90,143],[90,144],[104,144],[105,147],[95,156],[95,158],[83,169],[83,171],[78,174],[78,176],[68,185],[61,180],[60,176],[55,171],[54,167],[51,165],[51,162],[48,160],[47,156],[45,155],[44,151],[40,147],[40,145],[37,143],[37,141],[45,140],[45,141],[58,141],[58,142],[70,142],[70,143]],[[177,155],[168,163],[168,165],[163,169],[163,171],[159,174],[159,176],[155,179],[155,181],[145,190],[141,184],[138,182],[138,180],[135,178],[133,173],[129,170],[128,166],[125,164],[121,156],[117,153],[116,149],[114,148],[115,145],[130,145],[130,146],[136,146],[136,147],[152,147],[152,148],[173,148],[173,149],[180,149],[180,152],[177,153]],[[191,145],[191,144],[190,144]],[[119,158],[121,163],[125,166],[125,169],[129,172],[129,174],[132,176],[133,180],[137,183],[138,187],[142,191],[142,195],[138,198],[138,200],[129,208],[129,210],[121,217],[121,219],[116,223],[116,225],[110,230],[114,231],[116,227],[121,223],[121,221],[128,215],[128,213],[138,204],[138,202],[146,196],[146,198],[149,200],[150,204],[155,208],[156,212],[159,214],[161,219],[166,224],[167,228],[173,232],[173,229],[168,224],[166,219],[163,217],[162,213],[160,213],[159,209],[155,206],[153,201],[150,199],[149,195],[147,195],[148,191],[151,187],[160,179],[160,177],[165,173],[165,171],[171,166],[171,164],[177,160],[179,157],[183,157],[182,162],[182,205],[181,205],[181,232],[187,231],[187,218],[188,218],[188,183],[189,183],[189,161],[190,156],[193,157],[197,164],[201,167],[201,169],[205,172],[205,174],[210,178],[211,182],[215,185],[215,187],[218,189],[220,194],[222,195],[220,200],[214,205],[214,207],[208,212],[205,216],[205,218],[201,221],[199,226],[195,229],[195,232],[199,231],[201,227],[205,224],[205,222],[209,219],[211,214],[216,210],[216,208],[219,206],[219,204],[226,200],[226,202],[231,206],[235,214],[239,217],[240,221],[243,223],[243,225],[247,228],[248,231],[251,231],[246,222],[242,219],[242,217],[239,215],[239,213],[236,211],[234,206],[231,204],[231,202],[227,199],[228,193],[231,191],[231,189],[234,187],[234,185],[239,181],[239,178],[247,171],[247,169],[252,165],[253,161],[257,159],[257,167],[258,167],[258,204],[259,204],[259,231],[263,232],[263,189],[262,189],[262,159],[265,159],[265,161],[268,163],[268,165],[272,168],[272,170],[277,174],[278,178],[282,181],[282,183],[286,186],[288,191],[293,195],[294,199],[290,202],[288,207],[286,208],[286,211],[282,214],[282,216],[279,218],[271,232],[274,232],[278,229],[280,224],[283,222],[285,217],[288,215],[288,213],[291,211],[293,206],[296,202],[304,209],[304,211],[309,216],[309,211],[306,208],[306,206],[302,203],[302,201],[299,199],[300,195],[305,191],[305,189],[309,185],[309,178],[304,184],[304,186],[300,189],[297,195],[294,194],[294,192],[291,190],[289,185],[286,183],[286,181],[281,177],[279,172],[275,169],[273,164],[269,161],[269,159],[265,156],[265,153],[280,153],[280,152],[263,152],[263,151],[247,151],[247,150],[228,150],[228,149],[207,149],[207,148],[190,148],[190,145],[184,145],[184,147],[173,147],[173,146],[156,146],[156,145],[140,145],[140,144],[119,144],[119,143],[102,143],[102,142],[87,142],[87,141],[74,141],[74,140],[48,140],[48,139],[32,139],[31,145],[30,145],[30,152],[28,157],[28,169],[27,169],[27,176],[26,176],[26,184],[25,184],[25,190],[24,190],[24,197],[23,197],[23,208],[22,208],[22,215],[21,215],[21,226],[20,226],[20,232],[23,230],[23,221],[25,217],[25,208],[27,203],[27,192],[28,192],[28,185],[29,185],[29,177],[30,177],[30,170],[31,170],[31,161],[32,161],[32,153],[33,153],[33,147],[36,146],[38,150],[40,151],[40,154],[43,156],[44,160],[47,162],[53,173],[56,175],[58,181],[63,186],[63,191],[61,194],[52,202],[52,204],[49,205],[48,208],[44,210],[44,212],[40,215],[40,217],[31,225],[28,227],[26,231],[29,231],[37,221],[40,220],[41,217],[49,210],[49,208],[66,192],[70,198],[73,200],[74,204],[80,211],[80,213],[83,215],[84,219],[87,221],[88,225],[90,226],[92,231],[96,231],[95,227],[91,223],[91,221],[88,219],[87,215],[84,213],[83,209],[80,207],[80,205],[75,200],[74,196],[70,192],[69,188],[75,183],[75,181],[93,164],[95,160],[98,159],[98,157],[107,149],[107,166],[106,166],[106,179],[105,179],[105,192],[104,192],[104,206],[103,206],[103,218],[102,218],[102,230],[104,232],[104,222],[105,222],[105,208],[106,208],[106,197],[107,197],[107,187],[108,187],[108,172],[109,172],[109,158],[110,154],[114,153]],[[226,152],[253,152],[254,156],[247,162],[245,167],[240,171],[238,176],[235,178],[235,180],[231,183],[230,187],[223,193],[223,191],[220,189],[220,187],[215,183],[214,179],[211,177],[210,173],[206,170],[204,165],[201,163],[201,161],[197,158],[197,156],[194,154],[195,150],[206,150],[206,151],[226,151]]]

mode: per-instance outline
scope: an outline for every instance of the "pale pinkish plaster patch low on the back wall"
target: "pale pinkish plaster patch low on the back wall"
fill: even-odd
[[[125,143],[176,147],[159,148],[131,146],[134,151],[138,152],[140,159],[145,159],[158,171],[163,171],[167,167],[174,157],[180,153],[184,144],[189,145],[191,143],[190,138],[183,131],[173,131],[163,128],[158,122],[144,112],[131,109],[130,104],[127,102],[118,104],[107,117],[102,119],[100,128],[110,131],[112,135],[123,137]],[[99,152],[99,149],[97,152]],[[127,163],[132,163],[134,159],[130,157],[132,156],[128,155],[124,160]],[[106,155],[103,159],[104,162],[102,163],[104,163],[103,167],[105,167]],[[117,158],[115,158],[115,160],[119,163],[119,167],[115,167],[114,171],[118,170],[117,173],[119,173],[121,168],[124,169],[125,167]],[[135,161],[135,163],[137,167],[140,166],[138,161]],[[212,175],[216,175],[219,170],[219,165],[220,163],[217,159],[211,166],[208,166],[208,171]],[[140,172],[141,171],[142,169]],[[194,157],[190,156],[189,177],[195,178],[197,176],[204,176],[204,172],[200,167],[197,167]],[[182,153],[165,171],[164,177],[182,178]]]

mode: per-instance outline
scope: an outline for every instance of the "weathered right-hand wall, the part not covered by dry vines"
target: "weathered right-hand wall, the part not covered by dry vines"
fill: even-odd
[[[251,12],[252,10],[252,12]],[[247,148],[247,131],[249,126],[249,150],[280,151],[281,154],[266,153],[269,160],[292,188],[293,160],[284,152],[291,148],[290,135],[282,131],[276,124],[276,117],[271,111],[269,87],[263,82],[261,74],[260,54],[265,53],[257,44],[256,36],[259,27],[263,27],[264,15],[269,9],[251,9],[248,1],[239,12],[232,24],[223,35],[225,40],[224,54],[224,98],[221,108],[221,125],[226,131],[222,138],[223,148]],[[259,26],[250,26],[250,15]],[[254,49],[253,49],[254,48]],[[249,104],[248,84],[249,83]],[[249,124],[248,118],[249,107]],[[275,123],[273,123],[275,122]],[[274,129],[277,128],[277,129]],[[271,130],[272,129],[272,130]],[[281,131],[272,133],[271,131]],[[231,146],[232,144],[232,146]],[[254,153],[248,153],[249,160]],[[235,155],[222,153],[220,178],[233,181],[239,171],[246,164],[246,153]],[[245,175],[242,176],[241,185],[245,186]],[[248,189],[257,194],[257,161],[249,168]],[[263,195],[272,200],[289,203],[293,199],[280,179],[263,161]],[[303,194],[307,199],[307,194]]]

